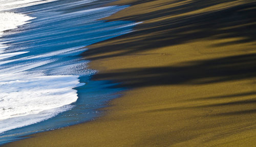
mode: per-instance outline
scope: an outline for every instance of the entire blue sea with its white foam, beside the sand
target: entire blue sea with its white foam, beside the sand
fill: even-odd
[[[119,96],[80,55],[137,24],[99,20],[128,7],[108,2],[0,0],[0,145],[91,121]]]

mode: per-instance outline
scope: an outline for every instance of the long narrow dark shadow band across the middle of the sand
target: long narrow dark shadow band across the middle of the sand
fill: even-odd
[[[95,79],[121,80],[123,86],[140,87],[168,84],[205,84],[256,76],[256,54],[244,54],[191,61],[185,66],[133,68],[99,73]]]

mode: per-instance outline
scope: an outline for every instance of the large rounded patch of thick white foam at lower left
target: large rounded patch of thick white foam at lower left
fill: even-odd
[[[51,62],[20,64],[0,70],[0,133],[47,120],[67,111],[71,108],[69,104],[77,100],[77,91],[73,88],[83,85],[79,76],[46,76],[40,70],[26,71]]]

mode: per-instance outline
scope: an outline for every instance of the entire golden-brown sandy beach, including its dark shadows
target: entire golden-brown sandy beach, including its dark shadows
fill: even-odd
[[[116,1],[142,22],[90,46],[94,80],[128,87],[95,121],[6,146],[256,146],[256,3]]]

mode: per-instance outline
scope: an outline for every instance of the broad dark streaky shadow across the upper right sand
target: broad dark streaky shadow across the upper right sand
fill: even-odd
[[[178,2],[181,1],[172,1],[169,3]],[[221,6],[221,4],[226,2],[230,2],[230,0],[207,2],[199,0],[191,1],[188,4],[164,10],[157,10],[142,15],[110,19],[109,21],[145,21],[147,19],[158,18],[159,16],[163,18],[174,16],[162,21],[140,24],[137,28],[138,31],[120,37],[126,37],[125,41],[104,44],[104,48],[101,46],[93,46],[92,49],[84,52],[83,55],[89,60],[97,60],[152,50],[156,47],[159,48],[183,44],[207,37],[212,37],[214,39],[237,38],[236,40],[215,44],[214,46],[216,47],[254,42],[256,32],[256,18],[254,17],[256,15],[255,2],[241,4],[219,11],[193,13],[206,7]],[[146,2],[138,1],[138,3]],[[136,4],[137,3],[135,3],[135,5]],[[114,41],[115,38],[111,40]],[[115,53],[116,51],[118,51],[118,53]]]

